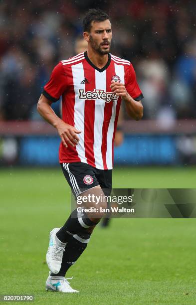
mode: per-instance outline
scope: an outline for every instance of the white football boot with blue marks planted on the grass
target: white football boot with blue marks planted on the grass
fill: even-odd
[[[50,291],[62,292],[62,293],[79,292],[75,289],[72,289],[67,280],[69,280],[69,279],[65,279],[64,277],[58,277],[58,276],[57,277],[51,277],[50,272],[49,272],[49,276],[48,276],[48,278],[46,280],[46,283],[45,283],[45,289],[47,291],[50,290]]]

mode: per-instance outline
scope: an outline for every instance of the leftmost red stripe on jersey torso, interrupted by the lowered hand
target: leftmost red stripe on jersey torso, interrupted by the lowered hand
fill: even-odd
[[[73,86],[73,77],[71,66],[66,67],[66,73],[70,75],[71,86],[69,92],[65,92],[62,96],[62,120],[74,126],[74,105],[75,105],[75,92]],[[62,142],[60,143],[59,148],[59,162],[80,162],[80,158],[76,151],[75,147],[72,147],[68,144],[68,147],[65,148]]]

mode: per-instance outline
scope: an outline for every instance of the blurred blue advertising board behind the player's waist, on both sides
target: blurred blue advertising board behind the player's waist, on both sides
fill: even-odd
[[[56,130],[41,122],[0,126],[0,165],[56,166],[60,139]],[[140,126],[140,123],[137,123]],[[127,126],[127,125],[126,125]],[[121,165],[196,164],[196,132],[172,133],[126,128],[124,142],[114,149]]]

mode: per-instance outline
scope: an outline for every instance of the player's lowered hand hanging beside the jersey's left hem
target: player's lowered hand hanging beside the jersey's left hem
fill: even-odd
[[[58,134],[61,138],[61,141],[63,145],[67,148],[67,145],[74,147],[75,145],[78,145],[78,142],[80,141],[77,134],[80,134],[81,131],[78,131],[75,129],[75,127],[64,123],[63,121],[60,122],[56,129],[58,131]]]

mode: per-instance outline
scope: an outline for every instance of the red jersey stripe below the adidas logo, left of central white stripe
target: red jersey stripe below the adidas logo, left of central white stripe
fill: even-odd
[[[95,70],[89,69],[87,61],[83,61],[84,77],[88,82],[85,83],[85,92],[95,89]],[[95,167],[94,156],[94,122],[95,122],[95,101],[85,100],[84,106],[84,148],[85,157],[88,164]]]

